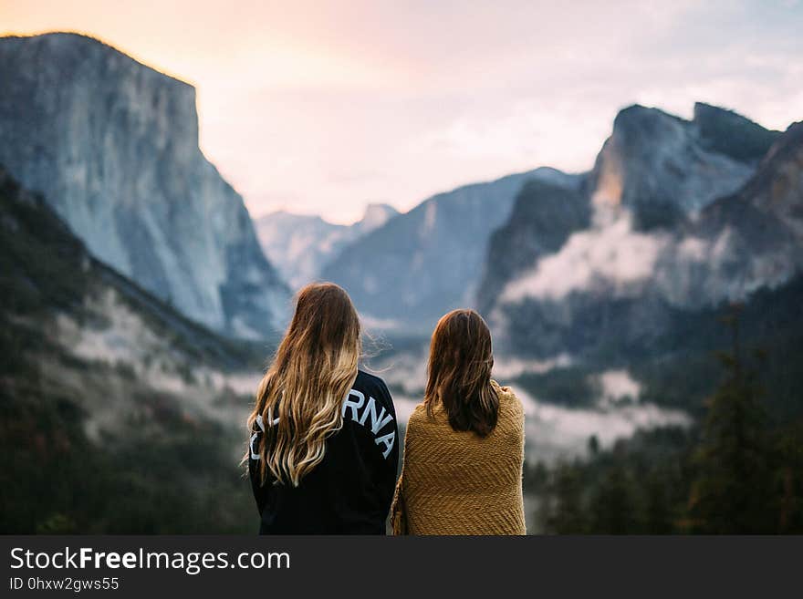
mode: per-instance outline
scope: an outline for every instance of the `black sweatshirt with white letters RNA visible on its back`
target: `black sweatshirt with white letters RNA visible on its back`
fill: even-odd
[[[343,402],[343,428],[326,441],[326,454],[298,487],[267,470],[259,481],[262,419],[251,435],[248,470],[261,534],[384,534],[399,462],[399,430],[388,387],[360,370]]]

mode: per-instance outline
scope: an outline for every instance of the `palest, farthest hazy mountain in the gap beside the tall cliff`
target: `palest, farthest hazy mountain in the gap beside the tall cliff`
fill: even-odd
[[[388,204],[369,204],[360,221],[334,224],[319,216],[272,212],[255,220],[256,236],[271,263],[293,289],[314,281],[324,264],[349,243],[398,214]]]

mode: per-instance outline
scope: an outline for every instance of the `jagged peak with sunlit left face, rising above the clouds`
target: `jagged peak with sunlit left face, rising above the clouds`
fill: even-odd
[[[755,168],[751,160],[766,153],[768,145],[762,144],[773,135],[734,113],[702,104],[695,106],[691,121],[658,108],[625,108],[591,171],[591,200],[629,209],[638,230],[673,226],[740,188]],[[740,156],[744,160],[734,157],[736,150],[722,151],[743,139],[750,149]]]

